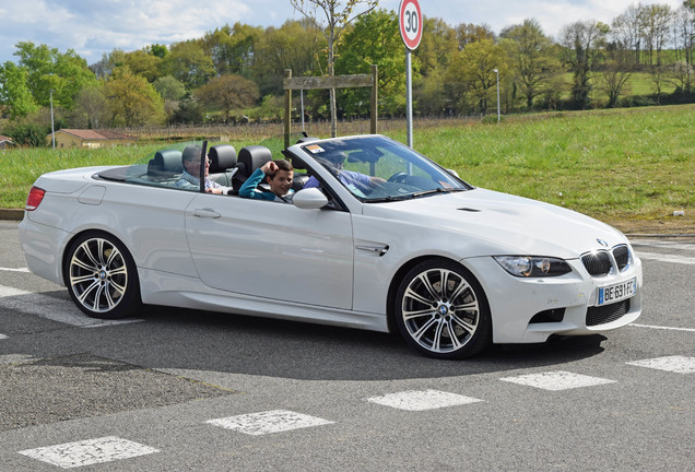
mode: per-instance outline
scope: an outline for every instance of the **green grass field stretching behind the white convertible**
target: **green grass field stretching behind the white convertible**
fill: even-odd
[[[606,222],[661,221],[675,210],[695,212],[694,126],[695,105],[514,115],[500,125],[416,121],[413,144],[479,187]],[[407,141],[404,121],[385,128],[391,129],[382,133]],[[257,143],[258,137],[232,142],[237,150]],[[263,144],[280,157],[282,140]],[[131,164],[162,146],[4,151],[0,208],[23,208],[32,182],[46,172]]]

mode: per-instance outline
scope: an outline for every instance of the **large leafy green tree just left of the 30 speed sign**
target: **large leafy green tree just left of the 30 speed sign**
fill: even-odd
[[[402,44],[396,13],[386,10],[370,11],[360,16],[354,28],[345,35],[344,52],[338,58],[335,69],[345,74],[368,74],[370,66],[378,64],[381,108],[385,113],[396,114],[405,107],[405,58]],[[419,70],[419,63],[413,69]],[[366,115],[369,110],[369,92],[368,88],[343,90],[341,103],[344,104],[345,111],[351,115]]]

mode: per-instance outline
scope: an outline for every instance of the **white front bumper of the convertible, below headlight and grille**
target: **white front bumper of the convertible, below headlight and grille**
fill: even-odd
[[[641,261],[620,273],[591,276],[581,260],[568,260],[572,273],[557,278],[521,279],[506,272],[492,257],[461,261],[487,296],[495,343],[538,343],[552,334],[596,334],[621,328],[641,315]],[[599,287],[636,280],[626,300],[597,307]],[[550,314],[545,317],[543,314]],[[550,318],[550,319],[549,319]],[[554,320],[556,319],[556,320]]]

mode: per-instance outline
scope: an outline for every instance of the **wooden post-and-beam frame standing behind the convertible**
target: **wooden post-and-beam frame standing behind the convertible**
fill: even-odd
[[[292,91],[305,90],[326,90],[326,88],[352,88],[352,87],[372,87],[372,97],[369,99],[369,132],[377,133],[378,114],[378,75],[377,67],[372,66],[368,74],[353,75],[328,75],[328,76],[302,76],[293,78],[292,69],[285,69],[285,79],[282,87],[285,91],[285,148],[290,146],[290,134],[292,133]],[[303,110],[304,111],[304,110]]]

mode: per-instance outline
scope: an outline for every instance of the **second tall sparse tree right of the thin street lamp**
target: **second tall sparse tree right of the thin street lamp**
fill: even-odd
[[[609,32],[608,25],[596,22],[576,22],[562,31],[562,44],[565,47],[563,59],[574,72],[572,101],[575,107],[586,109],[589,106],[589,73],[601,57],[601,46]]]

